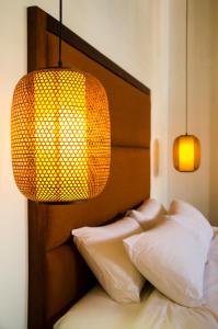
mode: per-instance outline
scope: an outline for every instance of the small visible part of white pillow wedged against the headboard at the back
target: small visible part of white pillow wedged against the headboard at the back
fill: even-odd
[[[160,216],[167,213],[162,204],[154,198],[146,200],[136,211],[127,212],[127,215],[135,218],[145,230],[152,228],[160,223]]]

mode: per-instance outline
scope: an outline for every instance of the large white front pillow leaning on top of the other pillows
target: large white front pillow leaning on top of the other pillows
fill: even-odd
[[[124,239],[135,266],[161,293],[186,307],[203,304],[203,281],[208,248],[191,230],[164,216],[161,225]]]

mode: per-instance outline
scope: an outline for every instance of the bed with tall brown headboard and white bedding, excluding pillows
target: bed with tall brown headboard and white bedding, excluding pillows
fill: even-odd
[[[55,66],[58,22],[27,12],[28,71]],[[218,229],[205,271],[206,305],[188,308],[148,282],[140,303],[119,304],[96,283],[71,230],[113,223],[150,195],[150,90],[67,27],[64,66],[90,71],[104,84],[112,124],[111,173],[104,192],[74,204],[28,201],[28,329],[218,328]],[[100,311],[101,309],[101,311]]]

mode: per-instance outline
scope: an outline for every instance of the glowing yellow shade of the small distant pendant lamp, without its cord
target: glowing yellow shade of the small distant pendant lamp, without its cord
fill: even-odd
[[[192,172],[200,164],[200,143],[193,135],[181,135],[173,144],[173,163],[177,171]]]

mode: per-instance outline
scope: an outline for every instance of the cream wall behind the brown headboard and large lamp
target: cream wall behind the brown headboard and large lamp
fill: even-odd
[[[65,0],[65,24],[152,88],[152,139],[160,143],[152,194],[167,195],[168,1]],[[25,329],[27,305],[26,201],[12,178],[10,107],[14,86],[26,72],[26,7],[58,18],[58,1],[0,0],[0,329]]]

